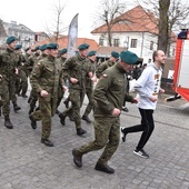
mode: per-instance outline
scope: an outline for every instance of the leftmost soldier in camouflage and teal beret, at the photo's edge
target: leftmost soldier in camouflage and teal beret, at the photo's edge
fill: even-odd
[[[10,36],[7,39],[7,49],[0,53],[0,89],[2,100],[2,113],[4,116],[4,126],[13,129],[10,121],[10,100],[12,100],[14,110],[19,110],[16,97],[16,74],[18,74],[18,57],[14,52],[16,37]]]

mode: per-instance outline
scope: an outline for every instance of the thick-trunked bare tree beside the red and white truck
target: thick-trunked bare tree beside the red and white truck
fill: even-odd
[[[169,56],[170,44],[176,38],[173,32],[186,27],[188,20],[189,4],[187,0],[140,0],[138,3],[158,18],[156,23],[159,29],[158,49],[162,49]]]

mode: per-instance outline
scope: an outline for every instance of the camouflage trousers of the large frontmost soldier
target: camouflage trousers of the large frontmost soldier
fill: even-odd
[[[94,140],[77,149],[78,155],[103,149],[98,162],[107,165],[115,151],[118,149],[120,140],[120,118],[94,118]]]

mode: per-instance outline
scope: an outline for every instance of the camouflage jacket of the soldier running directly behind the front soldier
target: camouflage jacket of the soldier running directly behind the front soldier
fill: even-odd
[[[62,74],[64,79],[76,78],[77,83],[71,83],[69,89],[86,89],[87,78],[89,78],[89,72],[91,70],[91,64],[88,58],[81,58],[80,56],[74,56],[69,58],[63,67]]]

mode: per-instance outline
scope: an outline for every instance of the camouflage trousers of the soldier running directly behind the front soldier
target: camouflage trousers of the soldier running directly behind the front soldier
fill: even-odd
[[[71,101],[71,107],[62,112],[64,117],[72,116],[76,125],[76,129],[81,128],[81,117],[80,108],[84,99],[84,90],[71,89],[69,93],[69,99]]]

